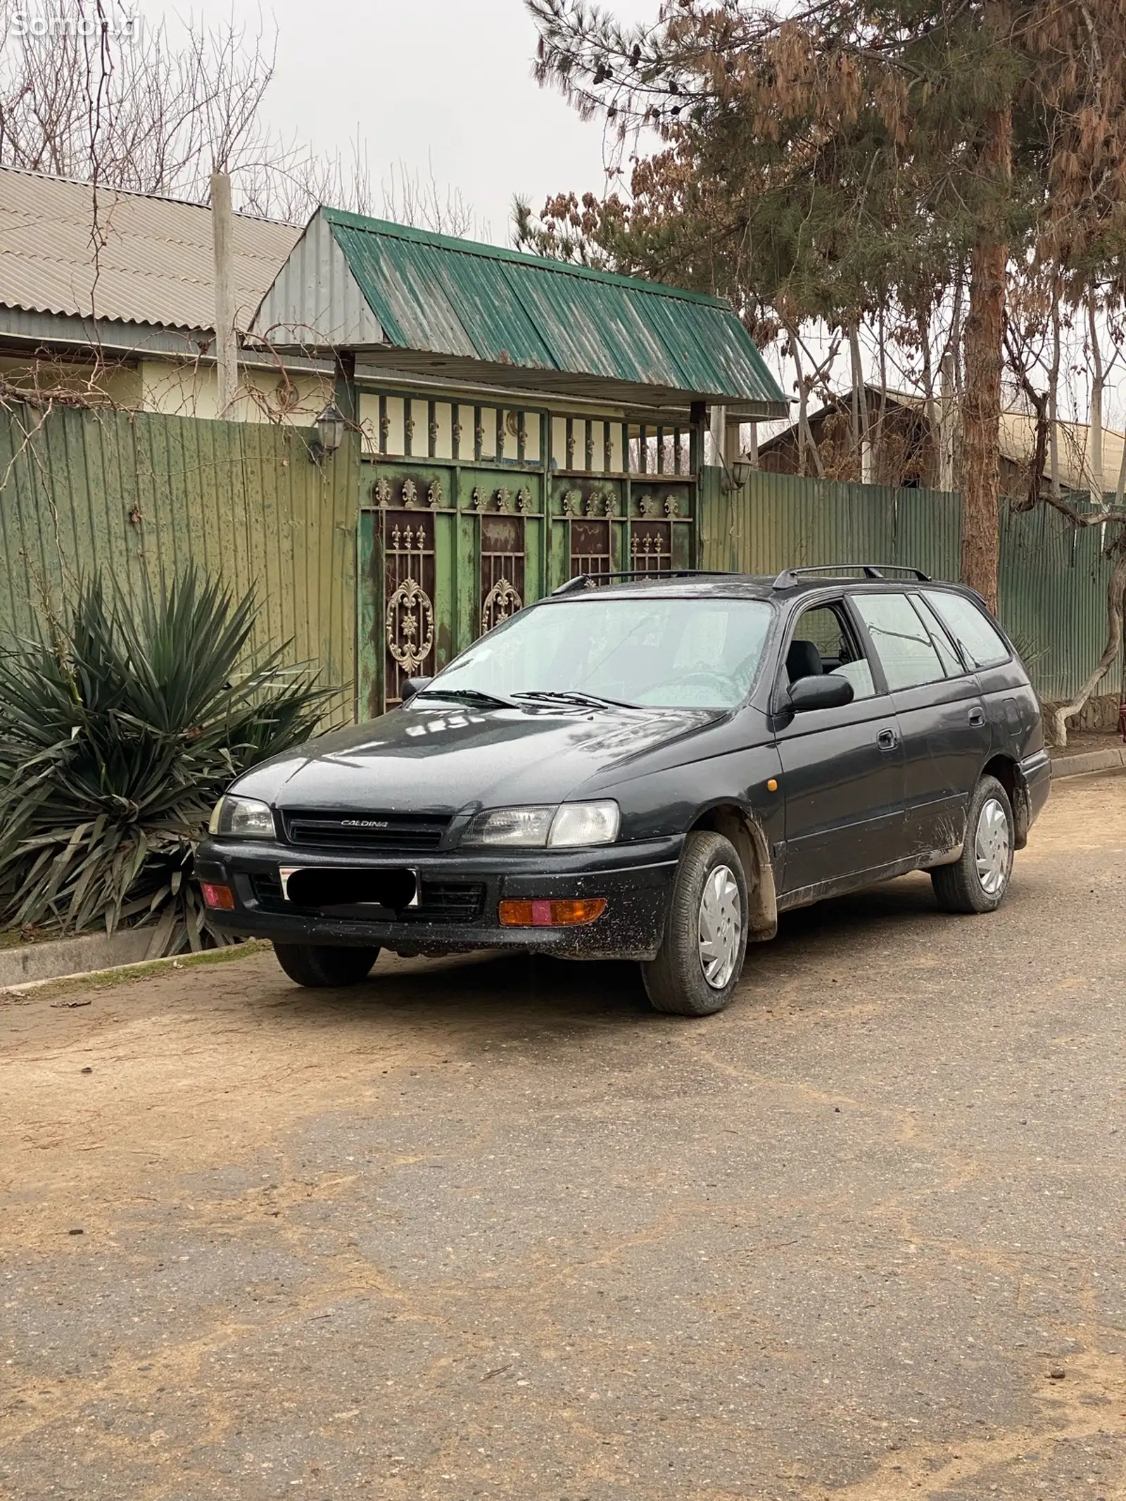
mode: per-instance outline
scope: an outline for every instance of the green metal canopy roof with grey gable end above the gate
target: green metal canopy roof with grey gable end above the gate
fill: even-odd
[[[640,407],[788,404],[728,302],[320,209],[254,332],[365,363]],[[300,338],[297,338],[300,335]]]

